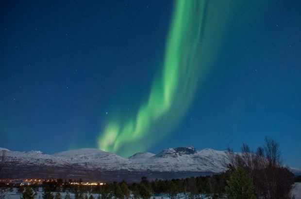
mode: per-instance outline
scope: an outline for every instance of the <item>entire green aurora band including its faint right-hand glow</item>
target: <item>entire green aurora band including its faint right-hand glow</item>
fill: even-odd
[[[142,152],[177,125],[222,46],[234,1],[241,4],[238,0],[175,1],[162,71],[133,118],[107,123],[98,138],[101,150],[122,156]]]

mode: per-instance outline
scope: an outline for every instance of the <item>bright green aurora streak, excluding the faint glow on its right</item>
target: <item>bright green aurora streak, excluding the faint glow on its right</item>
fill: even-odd
[[[176,2],[167,36],[163,69],[152,84],[147,102],[139,108],[135,118],[126,123],[110,122],[99,138],[101,150],[118,153],[122,145],[134,144],[134,149],[124,148],[129,156],[148,149],[157,139],[163,138],[184,114],[195,92],[198,80],[198,52],[201,48],[206,1]],[[168,120],[165,132],[159,133],[160,120]],[[141,140],[148,142],[141,144]]]

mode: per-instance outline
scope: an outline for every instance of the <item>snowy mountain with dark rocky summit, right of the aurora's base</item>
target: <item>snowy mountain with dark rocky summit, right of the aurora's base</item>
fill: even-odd
[[[134,170],[221,172],[226,169],[226,152],[194,147],[169,148],[143,162],[132,164]]]

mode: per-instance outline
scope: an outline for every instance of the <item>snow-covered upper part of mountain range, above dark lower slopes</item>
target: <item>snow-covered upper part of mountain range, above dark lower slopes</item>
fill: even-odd
[[[3,149],[4,150],[4,149]],[[1,150],[0,150],[1,151]],[[7,161],[20,166],[55,166],[128,171],[210,171],[225,169],[226,152],[194,147],[164,149],[158,154],[136,153],[129,158],[99,149],[77,149],[48,155],[40,151],[5,150]]]

